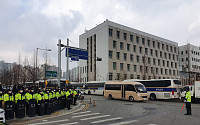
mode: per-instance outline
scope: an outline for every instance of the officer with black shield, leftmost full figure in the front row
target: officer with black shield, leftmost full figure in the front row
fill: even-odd
[[[6,120],[14,118],[14,96],[12,91],[9,89],[7,93],[4,94],[3,100],[5,102],[5,117]]]

